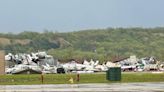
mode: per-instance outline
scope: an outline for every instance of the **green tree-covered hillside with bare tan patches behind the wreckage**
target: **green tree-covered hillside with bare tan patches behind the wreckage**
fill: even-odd
[[[155,56],[158,60],[164,60],[164,28],[107,28],[68,33],[22,32],[0,34],[0,38],[0,49],[6,53],[45,50],[61,61],[93,58],[103,62],[130,55]]]

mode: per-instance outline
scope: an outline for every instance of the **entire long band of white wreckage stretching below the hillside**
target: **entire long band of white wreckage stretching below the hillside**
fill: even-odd
[[[8,53],[5,56],[6,74],[41,74],[41,73],[94,73],[105,72],[110,67],[121,67],[122,71],[164,71],[164,64],[157,61],[154,57],[145,57],[138,59],[136,56],[107,61],[99,64],[99,60],[93,59],[88,62],[77,63],[72,60],[68,63],[60,63],[46,52],[37,52],[31,54]]]

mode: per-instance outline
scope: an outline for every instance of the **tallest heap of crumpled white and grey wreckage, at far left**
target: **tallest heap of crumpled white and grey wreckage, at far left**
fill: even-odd
[[[31,54],[19,53],[13,55],[9,53],[5,56],[6,73],[56,73],[57,59],[46,52],[38,52]]]

